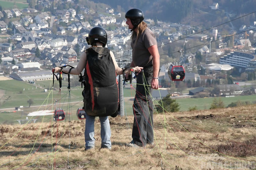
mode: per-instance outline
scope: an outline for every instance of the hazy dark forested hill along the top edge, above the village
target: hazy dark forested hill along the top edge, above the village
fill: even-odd
[[[255,11],[255,0],[94,0],[127,11],[140,8],[147,18],[179,23],[183,19],[192,18],[196,11],[210,11],[213,2],[219,3],[220,9],[234,11],[238,15]]]

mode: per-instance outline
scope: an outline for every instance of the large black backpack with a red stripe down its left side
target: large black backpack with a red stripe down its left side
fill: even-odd
[[[87,63],[84,77],[84,110],[90,116],[116,117],[120,111],[115,65],[110,50],[91,47],[85,50]]]

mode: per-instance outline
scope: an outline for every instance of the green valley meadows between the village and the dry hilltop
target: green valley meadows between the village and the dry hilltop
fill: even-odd
[[[61,90],[59,90],[59,82],[54,81],[52,90],[52,81],[36,81],[35,84],[17,80],[5,80],[0,83],[0,108],[14,108],[23,106],[21,111],[13,112],[14,109],[3,111],[1,114],[0,124],[17,123],[17,120],[25,119],[28,113],[38,110],[55,110],[62,108],[67,113],[66,120],[78,120],[76,111],[83,106],[82,88],[80,85],[67,89],[67,81],[62,81]],[[133,85],[135,87],[135,85]],[[135,90],[129,88],[123,89],[124,93],[124,114],[132,115],[133,98]],[[232,102],[249,101],[255,103],[256,95],[221,97],[221,101],[227,107]],[[28,107],[28,100],[32,99],[33,104]],[[207,110],[213,101],[213,97],[209,98],[174,98],[179,104],[180,111],[188,111],[189,108],[197,107],[197,110]],[[154,101],[155,105],[158,101]],[[8,109],[7,109],[8,110]],[[31,118],[31,117],[29,117]],[[33,117],[32,119],[35,119]],[[51,116],[37,116],[38,121],[49,121]]]

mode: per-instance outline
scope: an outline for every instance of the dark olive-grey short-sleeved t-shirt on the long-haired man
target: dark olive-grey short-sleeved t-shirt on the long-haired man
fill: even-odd
[[[157,45],[154,33],[147,27],[144,32],[132,39],[133,64],[140,67],[152,66],[152,55],[147,50],[150,46]]]

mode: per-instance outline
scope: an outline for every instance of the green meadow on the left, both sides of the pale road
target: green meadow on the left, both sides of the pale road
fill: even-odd
[[[62,108],[65,111],[65,121],[78,120],[76,111],[83,106],[81,86],[71,87],[69,91],[67,81],[62,80],[60,90],[59,82],[56,79],[54,85],[52,84],[53,82],[50,80],[35,81],[35,84],[17,80],[0,81],[0,109],[2,109],[0,110],[0,124],[17,124],[17,120],[25,122],[27,115],[31,112],[55,110],[55,108]],[[135,90],[124,88],[124,97],[130,98],[134,95]],[[27,102],[29,99],[33,101],[30,107]],[[125,114],[132,115],[132,100],[126,101],[129,104],[126,103],[127,110]],[[14,111],[14,107],[20,106],[22,106],[20,111]],[[3,108],[10,109],[3,110]],[[37,121],[51,121],[51,115],[28,116],[28,118],[37,119]]]

